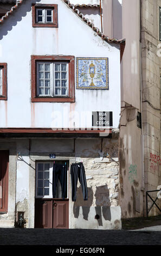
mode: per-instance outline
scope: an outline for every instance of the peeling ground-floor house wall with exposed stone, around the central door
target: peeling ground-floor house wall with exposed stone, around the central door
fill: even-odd
[[[12,140],[10,139],[10,141]],[[16,188],[10,186],[10,194],[12,194],[10,202],[12,202],[12,207],[14,208],[10,213],[12,218],[12,224],[11,222],[9,223],[10,227],[14,225],[14,211],[16,210],[16,214],[18,211],[24,211],[26,227],[34,228],[35,161],[50,161],[49,154],[55,153],[55,160],[68,160],[69,163],[82,161],[86,171],[87,201],[83,201],[81,187],[78,182],[77,200],[72,202],[71,181],[69,178],[69,228],[121,228],[121,209],[118,205],[118,138],[78,138],[75,140],[75,152],[71,147],[71,145],[74,145],[72,138],[41,139],[39,142],[37,139],[37,143],[35,143],[35,139],[31,139],[30,152],[29,139],[16,139],[15,142],[17,144],[17,152],[14,153],[14,162],[10,161],[9,163],[10,173],[17,166],[17,179],[14,180]],[[2,143],[3,147],[4,145],[5,142]],[[18,153],[20,154],[16,161],[16,154]],[[108,157],[106,157],[107,153]],[[100,156],[103,156],[103,158],[100,158]],[[16,197],[13,198],[15,193]],[[99,220],[95,219],[96,214],[99,215]],[[7,220],[7,215],[3,216],[3,218],[0,215],[0,227]]]

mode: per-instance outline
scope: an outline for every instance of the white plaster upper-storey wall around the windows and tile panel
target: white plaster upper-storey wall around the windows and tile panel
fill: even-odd
[[[52,113],[89,113],[87,127],[92,124],[92,111],[113,111],[113,127],[118,127],[120,114],[120,51],[107,44],[82,22],[62,1],[37,3],[58,4],[59,28],[33,28],[31,3],[27,1],[1,26],[1,62],[8,63],[8,101],[0,101],[0,127],[51,127]],[[31,54],[62,54],[75,57],[108,57],[109,90],[75,89],[75,103],[31,103]],[[83,115],[85,114],[83,113]],[[43,116],[43,118],[42,118]],[[68,126],[79,125],[73,119]],[[78,122],[78,123],[77,123]],[[61,127],[61,119],[55,124]],[[80,125],[79,125],[80,126]],[[52,126],[53,127],[53,126]]]

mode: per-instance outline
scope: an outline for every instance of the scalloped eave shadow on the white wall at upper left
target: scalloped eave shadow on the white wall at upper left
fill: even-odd
[[[35,4],[40,2],[41,0],[28,0],[22,2],[22,4],[18,5],[17,9],[9,14],[7,18],[4,18],[4,24],[0,25],[0,40],[4,35],[7,35],[9,31],[11,31],[12,27],[17,25],[17,22],[22,20],[22,17],[25,17],[29,11],[31,11],[31,4]],[[32,22],[32,21],[31,21]],[[24,28],[25,29],[25,28]]]

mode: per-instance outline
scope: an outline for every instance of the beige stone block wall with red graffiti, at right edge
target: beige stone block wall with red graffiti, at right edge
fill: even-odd
[[[145,161],[145,191],[156,190],[160,180],[160,0],[141,1],[142,97]],[[151,193],[155,199],[156,192]],[[160,200],[158,202],[160,204]],[[152,204],[150,200],[148,206]],[[146,208],[145,208],[146,209]],[[154,206],[149,215],[160,212]]]

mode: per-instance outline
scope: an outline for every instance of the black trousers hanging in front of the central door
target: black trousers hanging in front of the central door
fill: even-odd
[[[66,164],[57,164],[53,166],[53,198],[56,198],[57,181],[60,180],[62,189],[62,198],[66,197],[67,187],[67,166]]]

